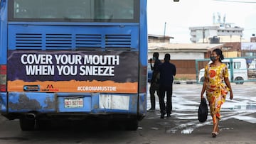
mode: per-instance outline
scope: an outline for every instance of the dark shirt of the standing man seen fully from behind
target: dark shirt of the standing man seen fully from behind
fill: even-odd
[[[164,62],[158,67],[160,72],[160,85],[171,86],[176,75],[176,66],[171,62]]]

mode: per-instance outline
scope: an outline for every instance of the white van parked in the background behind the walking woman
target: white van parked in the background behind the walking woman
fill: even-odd
[[[233,62],[233,69],[230,69],[230,60]],[[248,79],[248,72],[247,72],[247,64],[244,58],[234,58],[234,59],[224,59],[222,60],[228,66],[228,75],[230,82],[235,82],[235,84],[243,84],[243,81]],[[209,64],[211,61],[209,62]],[[231,73],[233,72],[233,74]],[[199,81],[203,82],[204,80],[204,73],[205,69],[201,69],[199,71]],[[231,77],[233,80],[231,80]],[[236,82],[237,81],[237,82]]]

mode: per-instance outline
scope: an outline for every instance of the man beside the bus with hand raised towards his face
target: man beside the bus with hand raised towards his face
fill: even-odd
[[[152,72],[152,77],[151,77],[151,82],[150,82],[150,101],[151,101],[151,109],[149,111],[154,111],[156,109],[156,98],[155,98],[155,92],[157,96],[159,96],[159,77],[157,76],[157,68],[161,64],[161,61],[159,60],[159,52],[154,52],[153,53],[153,59],[154,59],[154,66],[152,65],[152,59],[149,60],[151,70]]]

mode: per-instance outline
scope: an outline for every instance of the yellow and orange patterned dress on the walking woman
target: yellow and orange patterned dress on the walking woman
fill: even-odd
[[[223,83],[224,78],[228,77],[228,67],[224,63],[217,67],[206,65],[205,77],[208,78],[206,96],[209,101],[210,115],[213,117],[213,123],[216,123],[217,118],[220,119],[220,106],[225,102],[225,96],[229,91]]]

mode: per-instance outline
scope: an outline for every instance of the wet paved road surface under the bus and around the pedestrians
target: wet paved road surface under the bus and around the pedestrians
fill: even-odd
[[[83,130],[87,126],[68,123],[60,129],[23,132],[18,121],[6,121],[0,116],[0,143],[255,144],[255,86],[255,83],[232,84],[234,99],[227,99],[223,105],[220,135],[217,138],[211,138],[212,122],[209,116],[205,123],[197,120],[202,85],[174,84],[171,118],[160,119],[159,110],[149,112],[139,123],[138,131],[109,131],[102,125]],[[159,105],[156,109],[159,109]]]

